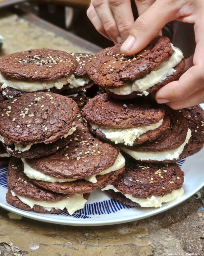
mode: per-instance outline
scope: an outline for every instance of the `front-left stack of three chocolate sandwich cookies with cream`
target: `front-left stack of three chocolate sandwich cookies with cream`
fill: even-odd
[[[13,156],[6,199],[23,210],[73,214],[124,171],[119,148],[95,139],[77,104],[62,95],[27,93],[2,102],[0,134]]]

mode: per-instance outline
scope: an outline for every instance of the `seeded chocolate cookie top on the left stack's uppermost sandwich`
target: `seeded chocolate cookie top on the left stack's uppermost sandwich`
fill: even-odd
[[[62,95],[28,93],[0,104],[0,134],[6,144],[48,144],[73,127],[78,111],[77,104]]]

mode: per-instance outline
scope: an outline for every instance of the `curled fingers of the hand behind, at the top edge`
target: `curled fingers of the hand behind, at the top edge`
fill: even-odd
[[[145,12],[155,0],[135,0],[138,14]],[[91,0],[87,16],[99,33],[114,43],[128,38],[134,25],[130,0]]]

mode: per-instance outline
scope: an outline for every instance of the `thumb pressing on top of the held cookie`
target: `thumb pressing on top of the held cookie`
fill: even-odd
[[[177,18],[176,13],[175,1],[157,0],[136,19],[129,37],[121,45],[121,52],[133,55],[141,51],[168,22]]]

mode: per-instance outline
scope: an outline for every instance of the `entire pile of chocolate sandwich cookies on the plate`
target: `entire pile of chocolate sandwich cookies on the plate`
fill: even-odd
[[[149,97],[178,79],[183,54],[160,36],[134,56],[120,46],[95,56],[38,49],[0,59],[9,99],[0,103],[0,157],[12,155],[9,204],[73,214],[97,188],[141,207],[183,195],[175,162],[201,149],[203,111],[175,111]],[[106,93],[84,97],[96,85]]]

